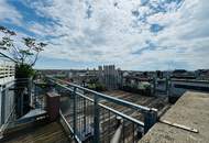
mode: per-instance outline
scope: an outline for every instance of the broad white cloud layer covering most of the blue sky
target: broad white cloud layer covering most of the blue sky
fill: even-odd
[[[123,69],[209,68],[209,3],[207,0],[185,0],[177,10],[175,3],[165,4],[167,12],[155,12],[140,0],[54,0],[29,1],[37,14],[52,18],[53,26],[34,24],[31,30],[52,38],[43,55],[75,62],[114,63]],[[156,7],[160,0],[150,0]],[[155,1],[155,2],[154,2]],[[87,8],[91,4],[91,16]],[[139,21],[132,11],[146,14],[146,22]],[[136,13],[138,14],[138,13]],[[165,25],[157,34],[150,32],[150,24]],[[142,54],[146,41],[158,47]],[[48,54],[50,53],[50,54]]]

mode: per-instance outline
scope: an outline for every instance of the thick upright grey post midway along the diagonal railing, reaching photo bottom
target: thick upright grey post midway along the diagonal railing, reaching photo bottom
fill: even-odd
[[[100,127],[99,127],[99,97],[95,95],[94,99],[94,143],[100,142]]]

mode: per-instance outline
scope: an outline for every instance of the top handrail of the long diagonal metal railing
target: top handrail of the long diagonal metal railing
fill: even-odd
[[[55,78],[52,78],[50,77],[51,80],[53,80],[54,82],[56,82],[55,80],[58,80],[58,81],[62,81],[62,82],[65,82],[72,87],[76,87],[78,89],[82,89],[84,91],[88,91],[90,94],[94,94],[96,96],[99,96],[100,98],[103,98],[106,100],[109,100],[109,101],[112,101],[114,103],[118,103],[118,105],[122,105],[122,106],[125,106],[128,108],[132,108],[132,109],[135,109],[135,110],[139,110],[141,112],[147,112],[147,111],[157,111],[157,109],[154,109],[154,108],[147,108],[147,107],[143,107],[143,106],[139,106],[139,105],[135,105],[135,103],[132,103],[132,102],[129,102],[129,101],[124,101],[122,99],[118,99],[118,98],[114,98],[114,97],[110,97],[110,96],[107,96],[105,94],[100,94],[100,92],[97,92],[97,91],[94,91],[94,90],[90,90],[90,89],[87,89],[87,88],[84,88],[84,87],[80,87],[80,86],[77,86],[75,84],[70,84],[68,81],[64,81],[64,80],[61,80],[61,79],[55,79]],[[57,84],[57,82],[56,82]]]

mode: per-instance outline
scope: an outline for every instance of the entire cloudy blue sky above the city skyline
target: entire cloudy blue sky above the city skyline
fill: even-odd
[[[207,0],[0,0],[0,24],[48,43],[36,68],[209,68]]]

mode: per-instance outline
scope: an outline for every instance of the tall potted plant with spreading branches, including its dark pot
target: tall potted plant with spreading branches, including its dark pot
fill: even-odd
[[[0,38],[0,55],[15,63],[16,112],[21,117],[30,110],[30,85],[35,75],[33,66],[47,44],[32,37],[19,37],[15,32],[4,26],[0,26],[0,32],[3,35]]]

